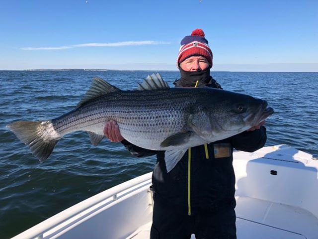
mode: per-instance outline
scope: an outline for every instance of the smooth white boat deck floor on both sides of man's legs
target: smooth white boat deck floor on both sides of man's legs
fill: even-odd
[[[238,239],[317,238],[317,232],[313,229],[318,229],[318,219],[304,209],[247,197],[237,198],[237,203]],[[150,229],[151,222],[127,239],[149,239]],[[191,239],[195,236],[192,235]]]

